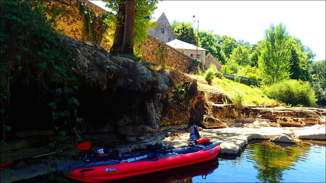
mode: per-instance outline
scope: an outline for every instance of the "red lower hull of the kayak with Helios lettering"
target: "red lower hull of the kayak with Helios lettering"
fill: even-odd
[[[220,146],[217,145],[208,150],[200,150],[188,154],[178,154],[177,156],[167,158],[134,161],[129,163],[108,163],[107,165],[101,163],[99,166],[75,168],[71,171],[71,175],[67,177],[82,182],[113,181],[213,160],[219,151]]]

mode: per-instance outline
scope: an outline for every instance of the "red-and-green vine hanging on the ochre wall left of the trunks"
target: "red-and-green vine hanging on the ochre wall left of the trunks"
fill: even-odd
[[[108,25],[104,22],[107,18],[107,14],[97,15],[94,11],[87,8],[83,1],[80,1],[79,10],[84,18],[84,29],[82,30],[83,41],[89,41],[100,45],[103,34],[108,28]]]

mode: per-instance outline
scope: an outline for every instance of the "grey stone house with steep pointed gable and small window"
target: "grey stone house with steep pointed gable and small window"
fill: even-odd
[[[150,21],[153,21],[151,16],[147,16]],[[147,32],[149,35],[156,37],[158,40],[167,43],[172,40],[178,39],[177,35],[173,32],[169,20],[166,18],[165,14],[162,13],[160,18],[157,19],[157,25],[153,28],[148,28]]]

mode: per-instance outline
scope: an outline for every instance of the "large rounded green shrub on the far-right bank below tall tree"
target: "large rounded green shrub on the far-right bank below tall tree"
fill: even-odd
[[[315,92],[308,82],[293,79],[272,85],[268,94],[271,98],[292,106],[314,107],[317,101]]]

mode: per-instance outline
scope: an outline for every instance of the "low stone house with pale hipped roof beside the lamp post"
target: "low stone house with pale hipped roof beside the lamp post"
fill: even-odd
[[[196,49],[198,50],[198,57],[199,59],[204,63],[205,65],[205,52],[208,51],[207,49],[201,48],[183,41],[180,41],[178,39],[175,39],[173,41],[170,41],[168,43],[166,43],[167,45],[181,51],[184,52],[186,55],[192,57],[192,58],[196,58]]]

